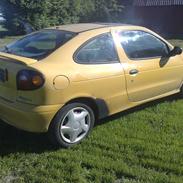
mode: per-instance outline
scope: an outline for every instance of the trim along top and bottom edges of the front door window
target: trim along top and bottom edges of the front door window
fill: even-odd
[[[161,38],[159,38],[159,37],[157,37],[156,35],[154,35],[154,34],[152,34],[151,32],[148,32],[148,31],[144,31],[144,30],[139,30],[139,29],[134,29],[134,30],[122,30],[122,31],[120,31],[120,32],[129,32],[129,31],[140,31],[140,32],[145,32],[145,33],[147,33],[147,34],[150,34],[151,36],[153,36],[153,37],[155,37],[155,38],[157,38],[158,40],[160,40],[161,42],[163,42],[165,45],[166,45],[166,47],[167,47],[167,49],[168,49],[168,51],[170,52],[171,51],[171,48],[168,46],[168,44],[164,41],[164,40],[162,40]],[[124,52],[125,52],[125,49],[124,49],[124,47],[123,47],[123,45],[120,43],[120,45],[122,46],[122,49],[124,50]],[[132,61],[139,61],[139,60],[149,60],[149,59],[161,59],[162,58],[162,56],[154,56],[154,57],[145,57],[145,58],[130,58],[129,57],[129,55],[125,52],[125,54],[126,54],[126,56],[128,57],[128,59],[130,59],[130,60],[132,60]]]

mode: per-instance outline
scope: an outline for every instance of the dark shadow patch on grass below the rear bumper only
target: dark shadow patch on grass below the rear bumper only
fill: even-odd
[[[0,156],[12,153],[37,153],[53,151],[46,134],[29,133],[0,121]]]

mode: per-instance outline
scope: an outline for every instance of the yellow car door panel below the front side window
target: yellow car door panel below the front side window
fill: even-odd
[[[160,62],[161,59],[152,59],[131,64],[139,71],[137,75],[130,75],[129,68],[126,70],[130,101],[143,101],[180,88],[183,70],[182,60],[171,58],[163,67],[160,66]],[[177,66],[173,62],[177,62]]]

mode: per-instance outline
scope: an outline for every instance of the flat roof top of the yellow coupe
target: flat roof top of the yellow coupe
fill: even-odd
[[[80,24],[68,24],[51,27],[51,29],[58,29],[68,32],[81,33],[89,30],[95,30],[100,28],[114,27],[114,26],[129,26],[127,24],[120,23],[80,23]],[[50,28],[49,28],[50,29]]]

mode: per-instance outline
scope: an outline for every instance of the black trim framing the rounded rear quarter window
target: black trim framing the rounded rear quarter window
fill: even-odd
[[[116,56],[117,56],[117,60],[116,61],[108,61],[107,63],[105,61],[103,62],[93,62],[93,63],[82,63],[80,61],[77,60],[77,54],[78,52],[84,48],[88,43],[90,43],[91,41],[97,39],[98,37],[101,37],[101,36],[104,36],[104,35],[110,35],[112,40],[113,40],[113,43],[114,43],[114,49],[115,49],[115,52],[116,52]],[[113,35],[111,34],[111,32],[105,32],[105,33],[102,33],[102,34],[99,34],[97,36],[94,36],[90,39],[88,39],[87,41],[85,41],[84,43],[82,43],[81,46],[79,46],[79,48],[77,48],[77,50],[75,51],[75,53],[73,54],[73,60],[75,63],[77,64],[80,64],[80,65],[107,65],[107,64],[119,64],[121,63],[120,62],[120,59],[119,59],[119,55],[118,55],[118,51],[117,51],[117,48],[116,48],[116,44],[115,44],[115,41],[114,41],[114,38],[113,38]]]

